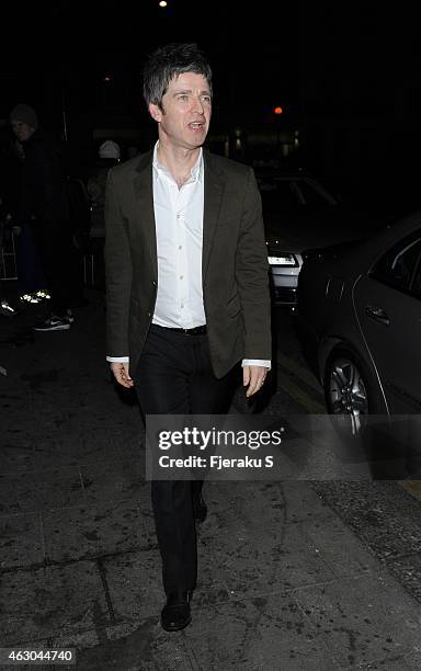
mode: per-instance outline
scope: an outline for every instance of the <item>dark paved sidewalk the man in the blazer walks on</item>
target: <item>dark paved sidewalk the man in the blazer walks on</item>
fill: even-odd
[[[205,485],[193,622],[160,628],[144,430],[88,298],[69,331],[32,333],[44,306],[0,318],[0,645],[72,647],[82,671],[420,669],[421,593],[364,536],[356,490],[344,510],[306,481]]]

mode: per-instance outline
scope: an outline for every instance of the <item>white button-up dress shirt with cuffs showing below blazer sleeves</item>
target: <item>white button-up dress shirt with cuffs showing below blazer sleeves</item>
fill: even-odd
[[[179,187],[153,150],[153,211],[157,231],[158,293],[152,323],[192,329],[206,323],[203,305],[202,247],[204,179],[203,152],[191,175]],[[107,356],[127,362],[128,356]],[[270,361],[243,360],[242,366],[271,367]]]

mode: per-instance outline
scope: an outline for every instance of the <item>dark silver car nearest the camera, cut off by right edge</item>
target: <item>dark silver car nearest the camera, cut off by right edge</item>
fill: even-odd
[[[329,412],[421,413],[421,213],[307,252],[297,319]]]

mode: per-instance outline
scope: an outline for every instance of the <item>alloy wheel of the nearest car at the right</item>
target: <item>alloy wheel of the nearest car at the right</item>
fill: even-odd
[[[368,414],[385,412],[371,375],[350,350],[333,350],[326,365],[323,387],[328,412],[343,416],[353,435],[361,434]]]

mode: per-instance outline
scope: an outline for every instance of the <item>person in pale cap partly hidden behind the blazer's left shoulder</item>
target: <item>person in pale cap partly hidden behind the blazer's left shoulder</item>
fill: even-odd
[[[121,149],[117,143],[105,140],[99,149],[99,160],[87,182],[91,202],[90,243],[93,252],[95,285],[104,288],[104,241],[105,241],[105,186],[110,168],[120,163]]]

